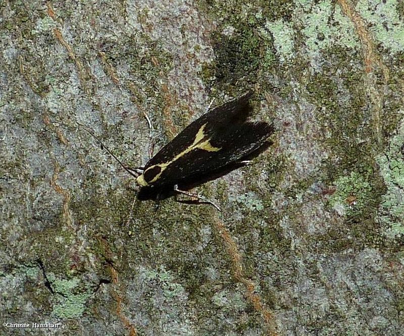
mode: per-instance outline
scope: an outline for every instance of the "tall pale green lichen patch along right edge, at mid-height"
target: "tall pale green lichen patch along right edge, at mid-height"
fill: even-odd
[[[379,220],[389,238],[404,234],[404,123],[390,139],[385,153],[377,157],[387,192],[382,196]]]

